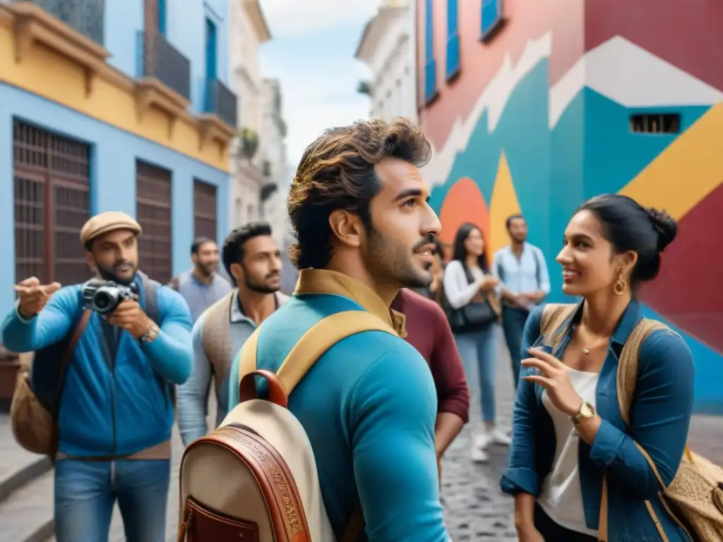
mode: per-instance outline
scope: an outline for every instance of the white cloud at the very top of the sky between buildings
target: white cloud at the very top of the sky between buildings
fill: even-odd
[[[368,20],[379,0],[261,0],[272,38],[307,35]]]

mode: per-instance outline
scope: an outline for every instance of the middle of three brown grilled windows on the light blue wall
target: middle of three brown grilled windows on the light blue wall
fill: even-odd
[[[136,160],[138,267],[159,283],[171,280],[171,172]]]

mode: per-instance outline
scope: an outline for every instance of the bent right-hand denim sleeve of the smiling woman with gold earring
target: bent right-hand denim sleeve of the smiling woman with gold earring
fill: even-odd
[[[669,485],[683,457],[692,410],[693,354],[679,335],[656,331],[641,346],[628,432],[603,420],[591,460],[631,498],[652,499],[660,488],[636,443]]]

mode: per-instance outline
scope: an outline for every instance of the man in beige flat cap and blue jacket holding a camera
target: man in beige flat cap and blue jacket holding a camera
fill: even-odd
[[[138,271],[140,233],[123,212],[91,218],[80,242],[98,276],[64,288],[22,280],[2,323],[6,348],[35,351],[25,395],[42,403],[48,378],[57,388],[57,411],[49,412],[55,442],[33,451],[56,460],[58,542],[106,539],[116,499],[127,540],[166,538],[173,389],[191,372],[192,324],[179,293]],[[26,447],[19,435],[45,429],[29,411],[13,413]]]

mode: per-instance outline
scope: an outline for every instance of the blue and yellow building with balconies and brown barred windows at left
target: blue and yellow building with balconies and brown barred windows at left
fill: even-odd
[[[79,233],[120,210],[161,282],[228,230],[227,0],[0,4],[0,311],[30,276],[89,275]],[[192,220],[189,220],[193,217]],[[14,231],[14,236],[8,232]]]

